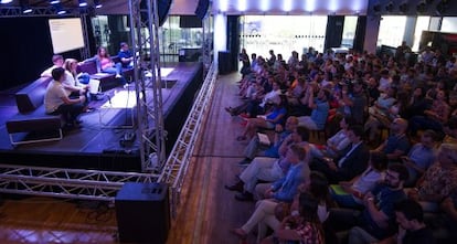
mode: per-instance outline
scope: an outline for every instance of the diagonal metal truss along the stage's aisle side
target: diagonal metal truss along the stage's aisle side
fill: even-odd
[[[199,95],[189,113],[188,119],[174,144],[171,155],[168,157],[162,173],[158,181],[168,183],[171,189],[171,213],[177,214],[177,206],[180,203],[181,188],[192,157],[193,149],[199,139],[200,130],[208,118],[211,100],[213,98],[214,85],[217,77],[217,70],[214,63],[210,66],[208,75],[200,88]]]

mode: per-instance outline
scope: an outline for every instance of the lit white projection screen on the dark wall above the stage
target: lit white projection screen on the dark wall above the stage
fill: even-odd
[[[84,47],[81,19],[50,19],[49,23],[54,54]]]

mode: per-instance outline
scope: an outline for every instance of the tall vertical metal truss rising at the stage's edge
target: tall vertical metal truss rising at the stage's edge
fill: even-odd
[[[137,126],[144,171],[160,171],[166,161],[157,0],[129,0],[130,35],[137,92]]]

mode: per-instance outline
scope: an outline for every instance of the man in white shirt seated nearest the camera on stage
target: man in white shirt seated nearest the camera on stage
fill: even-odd
[[[77,116],[83,113],[86,97],[68,97],[62,85],[65,78],[65,70],[63,67],[52,70],[51,74],[54,81],[47,85],[46,94],[44,95],[45,112],[49,115],[63,115],[66,127],[77,127],[81,124]]]

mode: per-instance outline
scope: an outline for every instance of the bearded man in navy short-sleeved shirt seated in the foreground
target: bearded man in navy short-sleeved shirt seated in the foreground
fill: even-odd
[[[349,232],[349,243],[373,243],[392,236],[396,231],[394,204],[406,199],[403,183],[407,178],[406,167],[390,165],[384,182],[363,197],[363,211],[332,209],[328,223],[336,231],[358,226]]]

